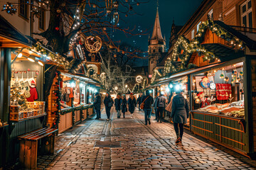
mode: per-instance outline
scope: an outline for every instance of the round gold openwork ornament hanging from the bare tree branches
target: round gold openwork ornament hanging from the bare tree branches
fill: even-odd
[[[85,39],[85,47],[89,52],[98,52],[102,47],[102,40],[98,36],[89,36]]]

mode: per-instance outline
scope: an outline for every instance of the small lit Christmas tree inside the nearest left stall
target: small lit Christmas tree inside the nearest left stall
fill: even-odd
[[[11,105],[21,106],[22,110],[26,110],[26,98],[21,94],[21,88],[17,86],[11,87]]]

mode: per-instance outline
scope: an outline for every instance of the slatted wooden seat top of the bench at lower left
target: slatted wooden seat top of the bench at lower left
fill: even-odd
[[[58,131],[58,129],[53,129],[53,128],[41,128],[39,130],[35,130],[33,132],[30,132],[26,135],[21,135],[18,138],[22,140],[40,140],[43,137],[46,137],[53,132]]]

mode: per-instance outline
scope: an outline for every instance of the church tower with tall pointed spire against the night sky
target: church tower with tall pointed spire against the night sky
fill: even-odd
[[[149,39],[149,74],[157,66],[163,52],[166,52],[166,40],[161,35],[158,7],[156,9],[156,20],[152,37]]]

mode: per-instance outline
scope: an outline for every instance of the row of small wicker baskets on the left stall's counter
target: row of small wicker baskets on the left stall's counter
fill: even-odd
[[[10,106],[10,120],[20,122],[46,115],[44,101],[26,102],[26,106],[26,110],[21,110],[21,106]]]

